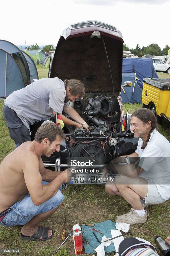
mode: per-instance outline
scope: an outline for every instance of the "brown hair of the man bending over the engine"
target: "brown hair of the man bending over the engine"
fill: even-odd
[[[86,91],[84,83],[76,79],[64,80],[64,87],[65,89],[68,87],[73,96],[80,95],[80,97],[83,97]]]

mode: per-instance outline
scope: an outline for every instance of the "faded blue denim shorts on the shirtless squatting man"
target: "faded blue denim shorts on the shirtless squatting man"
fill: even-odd
[[[49,182],[42,181],[43,185],[48,183]],[[57,208],[64,200],[64,195],[61,193],[61,190],[62,185],[53,197],[39,206],[34,205],[31,200],[31,196],[28,193],[28,195],[26,195],[23,199],[10,207],[7,215],[5,215],[3,220],[0,221],[0,225],[4,227],[25,225],[34,216]]]

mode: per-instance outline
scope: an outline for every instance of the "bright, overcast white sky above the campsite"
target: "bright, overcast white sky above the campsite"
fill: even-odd
[[[0,39],[15,45],[57,45],[70,24],[98,20],[117,27],[129,48],[170,45],[169,0],[6,0]]]

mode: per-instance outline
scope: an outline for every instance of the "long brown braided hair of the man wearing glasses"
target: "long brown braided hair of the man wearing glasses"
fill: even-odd
[[[147,140],[145,143],[143,143],[143,145],[141,146],[141,149],[144,149],[146,148],[148,142],[149,142],[149,139],[151,137],[151,132],[153,132],[153,130],[155,128],[158,128],[158,123],[157,123],[157,120],[156,120],[156,117],[154,115],[154,113],[150,110],[150,109],[146,109],[146,108],[141,108],[141,109],[137,109],[133,114],[132,116],[136,116],[138,119],[140,119],[143,123],[147,124],[148,121],[151,121],[151,130],[148,134],[148,137],[147,137]],[[131,118],[132,118],[131,116]]]

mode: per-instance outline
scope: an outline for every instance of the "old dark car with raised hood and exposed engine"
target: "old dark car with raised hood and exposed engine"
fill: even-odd
[[[64,29],[50,60],[49,77],[79,79],[85,84],[84,97],[71,103],[89,131],[65,125],[66,140],[60,152],[43,156],[45,166],[67,168],[68,159],[74,158],[93,161],[92,169],[99,176],[111,159],[123,154],[124,143],[130,143],[129,153],[135,151],[137,140],[132,139],[129,126],[122,132],[122,49],[123,37],[115,26],[88,20]]]

